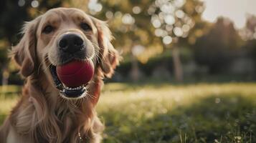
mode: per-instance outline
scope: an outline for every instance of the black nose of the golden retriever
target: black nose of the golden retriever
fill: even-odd
[[[59,47],[62,51],[75,53],[84,48],[84,41],[77,34],[65,34],[59,41]]]

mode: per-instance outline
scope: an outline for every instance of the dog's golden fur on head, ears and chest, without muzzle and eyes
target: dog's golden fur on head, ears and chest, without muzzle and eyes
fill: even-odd
[[[72,12],[70,12],[72,11]],[[51,15],[54,13],[54,15]],[[69,14],[67,14],[69,13]],[[54,37],[63,29],[70,29],[70,14],[85,16],[92,26],[91,33],[85,33],[75,26],[71,28],[86,36],[93,44],[95,74],[87,85],[87,95],[82,99],[64,99],[54,87],[47,66],[49,50],[54,48]],[[61,25],[52,36],[40,34],[43,23],[52,16],[60,16]],[[83,19],[84,17],[80,17]],[[54,21],[56,23],[56,21]],[[54,23],[54,24],[55,24]],[[25,24],[24,36],[14,46],[11,55],[20,66],[20,73],[26,78],[22,97],[12,109],[0,128],[0,143],[34,142],[100,142],[104,126],[97,117],[95,105],[103,86],[103,78],[111,77],[118,64],[118,52],[110,44],[111,34],[105,22],[88,16],[79,9],[58,8],[48,11]],[[54,53],[54,52],[52,52]],[[57,56],[57,55],[54,55]]]

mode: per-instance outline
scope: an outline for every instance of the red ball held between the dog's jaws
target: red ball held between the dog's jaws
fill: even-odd
[[[67,87],[80,87],[93,78],[93,61],[71,61],[56,68],[57,76]]]

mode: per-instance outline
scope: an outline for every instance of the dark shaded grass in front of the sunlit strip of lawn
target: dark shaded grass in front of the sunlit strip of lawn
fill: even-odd
[[[118,109],[101,115],[104,142],[256,142],[253,96],[209,96],[137,122]]]

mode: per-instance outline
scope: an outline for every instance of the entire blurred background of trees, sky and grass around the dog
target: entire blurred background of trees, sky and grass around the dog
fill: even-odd
[[[123,56],[98,107],[104,142],[256,142],[255,0],[0,3],[0,123],[24,83],[8,58],[22,24],[76,7],[108,21]]]

